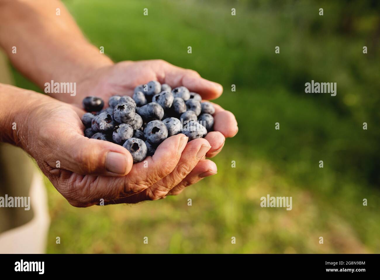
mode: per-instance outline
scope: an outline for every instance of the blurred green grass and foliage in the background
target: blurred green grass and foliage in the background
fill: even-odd
[[[48,184],[49,253],[380,253],[378,1],[64,2],[114,61],[161,58],[221,83],[239,133],[218,174],[177,197],[77,209]],[[311,80],[337,95],[304,93]],[[293,210],[261,208],[267,194]]]

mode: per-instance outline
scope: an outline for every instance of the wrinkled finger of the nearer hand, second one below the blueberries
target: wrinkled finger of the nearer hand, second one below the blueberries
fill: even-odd
[[[165,197],[174,186],[179,184],[187,174],[193,170],[210,147],[209,143],[203,138],[188,142],[177,166],[168,176],[162,178],[143,192],[115,203],[137,203],[144,200],[157,200]]]

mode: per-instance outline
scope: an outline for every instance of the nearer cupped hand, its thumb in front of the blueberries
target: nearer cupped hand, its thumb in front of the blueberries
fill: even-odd
[[[133,164],[131,154],[112,142],[86,138],[75,106],[30,92],[27,110],[17,120],[16,144],[33,158],[54,187],[71,205],[137,203],[156,200],[187,183],[210,149],[206,139],[187,144],[184,134],[171,136],[153,157]]]

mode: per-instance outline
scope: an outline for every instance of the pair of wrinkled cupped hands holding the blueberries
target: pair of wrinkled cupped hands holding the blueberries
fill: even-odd
[[[120,145],[84,136],[84,97],[98,96],[108,104],[110,96],[132,95],[135,86],[150,80],[173,88],[186,86],[203,99],[215,99],[223,91],[221,85],[201,78],[193,70],[153,60],[123,61],[87,73],[77,82],[72,104],[29,94],[28,108],[24,110],[30,113],[22,121],[27,133],[21,133],[18,139],[71,205],[157,200],[177,195],[185,187],[217,173],[215,163],[205,158],[217,155],[225,138],[237,133],[234,115],[217,104],[214,131],[205,138],[188,142],[184,134],[171,136],[153,157],[140,163],[133,164],[131,154]]]

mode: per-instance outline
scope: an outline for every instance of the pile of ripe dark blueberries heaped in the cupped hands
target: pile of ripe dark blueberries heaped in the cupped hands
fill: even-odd
[[[111,96],[106,109],[95,96],[87,96],[82,103],[88,112],[82,116],[84,135],[122,145],[133,162],[153,155],[170,136],[184,133],[191,141],[206,136],[214,126],[215,108],[210,102],[202,102],[198,93],[185,86],[172,90],[157,81],[136,86],[132,97]]]

